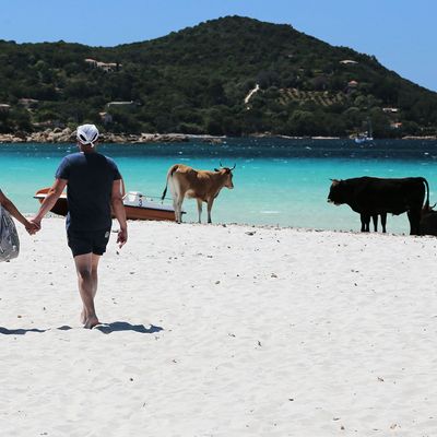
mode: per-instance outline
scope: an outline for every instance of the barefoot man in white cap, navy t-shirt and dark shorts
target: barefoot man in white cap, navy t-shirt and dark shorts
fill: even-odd
[[[128,239],[128,227],[121,197],[121,175],[113,160],[96,152],[97,128],[94,125],[79,126],[76,138],[80,152],[62,160],[54,186],[31,222],[40,227],[44,215],[67,186],[68,245],[73,253],[83,303],[81,321],[84,328],[91,329],[99,324],[94,297],[98,261],[106,251],[110,235],[110,206],[120,225],[117,238],[120,247]]]

